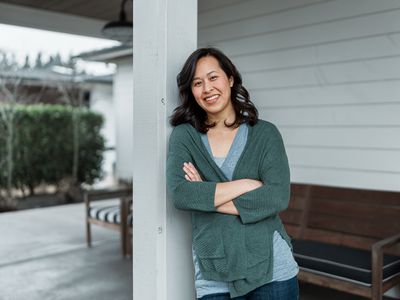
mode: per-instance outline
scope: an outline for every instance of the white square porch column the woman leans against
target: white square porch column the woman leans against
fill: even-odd
[[[176,75],[196,48],[196,0],[134,1],[133,298],[194,299],[191,225],[166,199]]]

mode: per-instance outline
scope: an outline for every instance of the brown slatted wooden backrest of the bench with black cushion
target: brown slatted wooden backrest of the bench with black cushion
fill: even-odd
[[[400,232],[400,192],[307,184],[291,190],[281,218],[293,238],[370,249]]]

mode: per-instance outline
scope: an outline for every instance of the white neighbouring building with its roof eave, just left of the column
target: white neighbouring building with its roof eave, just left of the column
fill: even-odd
[[[120,180],[131,181],[133,170],[132,44],[85,52],[75,58],[111,62],[117,65],[113,78],[112,106],[104,113],[107,113],[110,120],[115,120],[116,177]]]

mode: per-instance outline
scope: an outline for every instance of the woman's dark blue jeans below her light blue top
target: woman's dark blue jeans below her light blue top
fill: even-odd
[[[285,281],[273,281],[267,283],[247,295],[231,298],[229,293],[211,294],[199,300],[298,300],[299,284],[297,277]]]

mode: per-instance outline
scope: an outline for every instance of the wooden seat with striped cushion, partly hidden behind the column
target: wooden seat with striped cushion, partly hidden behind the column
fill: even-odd
[[[91,225],[117,230],[121,235],[123,256],[132,252],[132,188],[126,186],[101,190],[85,190],[86,243],[92,246]],[[99,200],[119,199],[117,204],[96,203]]]

